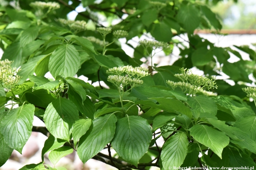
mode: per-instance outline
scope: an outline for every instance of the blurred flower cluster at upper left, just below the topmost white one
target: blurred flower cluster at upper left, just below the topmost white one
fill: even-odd
[[[86,30],[86,26],[87,26],[85,21],[79,21],[79,20],[72,21],[72,20],[66,20],[63,18],[59,18],[58,21],[65,26],[69,26],[70,29],[73,29],[78,32]]]

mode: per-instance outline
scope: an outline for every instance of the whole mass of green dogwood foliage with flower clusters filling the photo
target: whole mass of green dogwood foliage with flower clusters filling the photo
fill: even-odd
[[[48,136],[42,162],[21,170],[65,169],[55,164],[73,151],[83,163],[96,159],[117,169],[255,166],[256,90],[245,84],[256,74],[256,52],[236,46],[250,55],[244,61],[193,34],[222,28],[208,1],[15,2],[0,1],[0,166],[14,149],[22,152],[32,131]],[[80,2],[86,11],[66,19]],[[102,17],[120,22],[103,27]],[[182,34],[189,46],[175,38]],[[152,40],[129,44],[142,35]],[[133,58],[120,38],[134,48]],[[155,53],[168,56],[174,47],[181,53],[172,66],[153,63]],[[228,62],[230,53],[240,61]],[[194,66],[204,75],[193,74]],[[235,85],[215,79],[222,73]],[[46,127],[33,126],[34,116]],[[48,152],[53,166],[43,162]]]

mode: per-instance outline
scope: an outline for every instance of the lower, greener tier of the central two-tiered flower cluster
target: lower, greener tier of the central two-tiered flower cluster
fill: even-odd
[[[131,79],[127,76],[121,76],[121,75],[109,75],[107,80],[113,84],[115,84],[117,87],[120,86],[126,86],[128,84],[132,84],[132,86],[138,86],[143,84],[143,80],[139,79]]]

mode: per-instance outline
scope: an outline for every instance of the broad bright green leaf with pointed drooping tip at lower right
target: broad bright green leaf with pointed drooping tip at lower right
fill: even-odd
[[[193,126],[190,135],[198,142],[209,147],[220,158],[222,158],[223,148],[229,144],[229,137],[224,132],[206,125],[197,124]]]

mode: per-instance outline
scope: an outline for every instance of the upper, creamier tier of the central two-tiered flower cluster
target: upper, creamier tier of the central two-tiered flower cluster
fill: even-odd
[[[114,67],[107,70],[107,73],[113,73],[121,75],[122,73],[128,74],[129,77],[137,76],[136,78],[143,78],[148,76],[148,68],[145,67],[132,67],[132,66],[123,66],[123,67]]]

